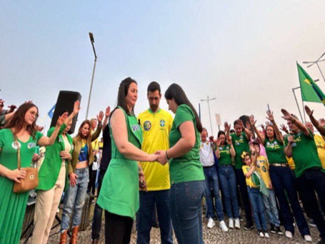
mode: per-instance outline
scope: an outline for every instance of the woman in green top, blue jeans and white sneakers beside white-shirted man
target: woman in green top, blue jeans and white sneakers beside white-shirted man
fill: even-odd
[[[224,199],[224,207],[229,220],[229,228],[240,229],[239,206],[237,199],[237,184],[234,167],[232,165],[232,157],[235,157],[236,151],[233,146],[232,138],[225,138],[223,131],[218,132],[218,138],[215,141],[215,155],[218,158],[218,174],[220,186],[222,189],[222,197]],[[234,212],[234,215],[233,215]]]

